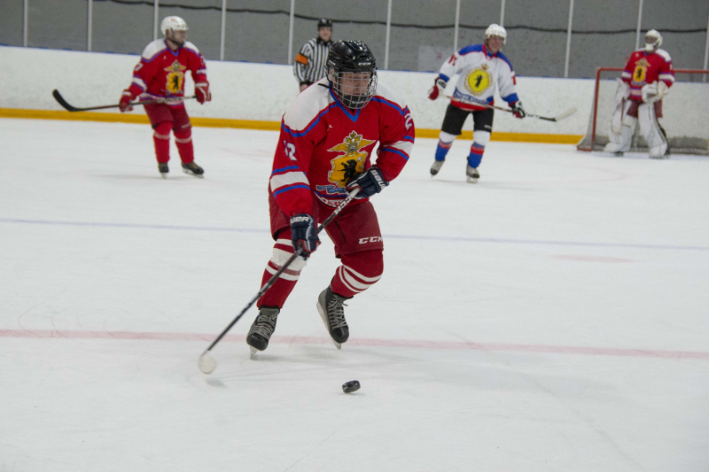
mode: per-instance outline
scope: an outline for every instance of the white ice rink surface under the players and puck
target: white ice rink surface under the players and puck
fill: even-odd
[[[277,133],[0,120],[0,470],[709,470],[709,159],[435,140],[372,199],[385,275],[248,358]],[[174,144],[173,144],[174,146]],[[353,394],[341,384],[359,380]]]

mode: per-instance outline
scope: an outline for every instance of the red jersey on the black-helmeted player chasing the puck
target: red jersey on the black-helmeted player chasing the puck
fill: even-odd
[[[414,144],[409,107],[378,84],[370,103],[348,110],[332,93],[327,79],[303,90],[281,121],[269,190],[288,216],[311,213],[313,196],[335,207],[347,197],[347,182],[376,165],[391,182]]]

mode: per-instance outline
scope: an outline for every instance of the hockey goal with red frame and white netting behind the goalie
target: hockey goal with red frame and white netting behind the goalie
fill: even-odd
[[[603,151],[608,143],[620,67],[599,67],[588,130],[579,151]],[[662,118],[670,151],[709,155],[709,70],[675,69],[674,84],[662,100]],[[647,151],[640,127],[635,127],[631,151]]]

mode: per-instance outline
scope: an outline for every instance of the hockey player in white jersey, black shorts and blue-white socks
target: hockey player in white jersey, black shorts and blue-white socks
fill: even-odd
[[[510,60],[502,53],[507,31],[499,25],[490,25],[485,31],[485,42],[473,44],[457,50],[440,67],[428,97],[435,100],[443,95],[446,84],[454,74],[460,74],[456,90],[448,104],[446,117],[440,129],[440,138],[436,148],[435,160],[431,166],[431,175],[438,174],[446,159],[450,146],[461,134],[465,120],[472,114],[473,131],[471,151],[465,175],[468,182],[478,182],[478,167],[482,161],[485,146],[490,141],[495,112],[484,104],[495,104],[495,88],[500,96],[510,105],[517,118],[525,117],[525,109],[515,92],[515,73]]]

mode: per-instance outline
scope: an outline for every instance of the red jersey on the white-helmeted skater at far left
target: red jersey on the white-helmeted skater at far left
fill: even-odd
[[[133,69],[129,90],[136,96],[183,97],[186,71],[191,72],[194,81],[206,81],[205,59],[197,47],[185,41],[178,50],[171,50],[166,40],[158,39],[145,47],[140,62]]]

